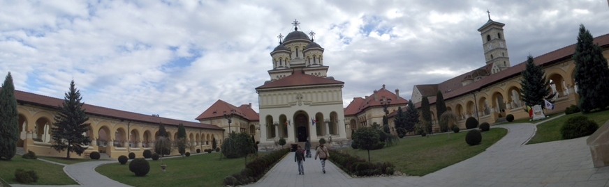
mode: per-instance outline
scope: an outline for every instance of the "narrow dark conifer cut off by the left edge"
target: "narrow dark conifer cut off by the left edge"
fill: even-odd
[[[17,151],[19,140],[19,113],[17,99],[15,99],[15,86],[10,72],[6,75],[0,90],[0,158],[10,160]]]

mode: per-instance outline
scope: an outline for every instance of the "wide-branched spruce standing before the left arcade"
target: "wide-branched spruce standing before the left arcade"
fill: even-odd
[[[84,103],[81,100],[80,90],[76,89],[74,80],[72,80],[70,91],[66,92],[64,103],[58,106],[57,115],[54,117],[55,122],[51,128],[51,138],[54,141],[51,147],[57,151],[67,149],[66,158],[70,158],[71,152],[80,156],[87,149],[84,145],[91,143],[89,136],[83,135],[89,131],[89,124],[85,123],[89,117],[82,108]]]

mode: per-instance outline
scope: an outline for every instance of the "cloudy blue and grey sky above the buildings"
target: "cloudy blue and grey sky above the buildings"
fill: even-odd
[[[506,24],[512,65],[609,33],[606,0],[578,1],[0,1],[0,74],[87,104],[195,121],[218,99],[252,103],[270,79],[277,35],[316,33],[344,105],[386,84],[410,98],[485,65],[477,29]]]

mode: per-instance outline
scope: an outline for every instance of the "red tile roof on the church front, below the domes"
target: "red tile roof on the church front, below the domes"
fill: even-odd
[[[313,76],[310,74],[302,73],[302,70],[295,70],[290,76],[286,76],[283,79],[266,83],[263,86],[258,86],[256,90],[264,88],[281,88],[281,87],[293,87],[293,86],[311,86],[311,85],[324,85],[324,84],[344,84],[342,81],[336,81],[327,79],[319,76]]]

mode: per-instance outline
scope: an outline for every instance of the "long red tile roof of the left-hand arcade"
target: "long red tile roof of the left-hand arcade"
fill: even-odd
[[[1,89],[1,88],[0,88]],[[23,92],[20,90],[15,90],[15,99],[20,104],[32,104],[37,106],[45,106],[49,108],[58,108],[63,102],[64,99],[57,99],[54,97],[47,97],[44,95],[37,95],[30,92]],[[152,115],[145,115],[140,113],[133,113],[128,111],[120,111],[112,108],[105,108],[102,106],[94,106],[91,104],[83,104],[82,108],[85,109],[85,113],[89,115],[98,115],[102,117],[110,117],[118,120],[127,120],[127,121],[136,121],[136,122],[146,122],[152,124],[158,124],[162,122],[163,124],[178,126],[180,123],[184,124],[184,127],[193,127],[193,128],[201,128],[201,129],[214,129],[214,130],[223,130],[220,127],[217,127],[213,124],[203,124],[198,122],[189,122],[183,120],[175,120],[166,117],[155,117]]]

